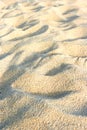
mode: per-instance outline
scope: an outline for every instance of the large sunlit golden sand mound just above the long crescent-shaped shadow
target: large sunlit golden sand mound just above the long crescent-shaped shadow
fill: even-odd
[[[42,94],[51,94],[55,92],[62,92],[62,91],[70,91],[70,90],[80,90],[80,86],[78,86],[78,82],[80,81],[80,78],[83,77],[82,72],[78,72],[75,69],[69,69],[68,71],[65,71],[65,73],[60,73],[58,75],[54,75],[53,77],[49,76],[43,76],[38,75],[37,73],[34,74],[28,74],[25,73],[26,78],[24,80],[25,76],[22,76],[14,83],[13,86],[24,89],[24,91],[30,92],[30,93],[42,93]],[[72,75],[72,77],[70,77]],[[39,78],[38,78],[39,76]],[[34,82],[32,82],[34,78]],[[61,79],[62,78],[62,79]],[[21,82],[22,81],[22,82]],[[84,81],[84,79],[83,79]],[[20,85],[20,83],[23,83]],[[25,87],[24,87],[25,86]],[[46,87],[48,86],[48,87]],[[84,86],[83,86],[84,87]]]

